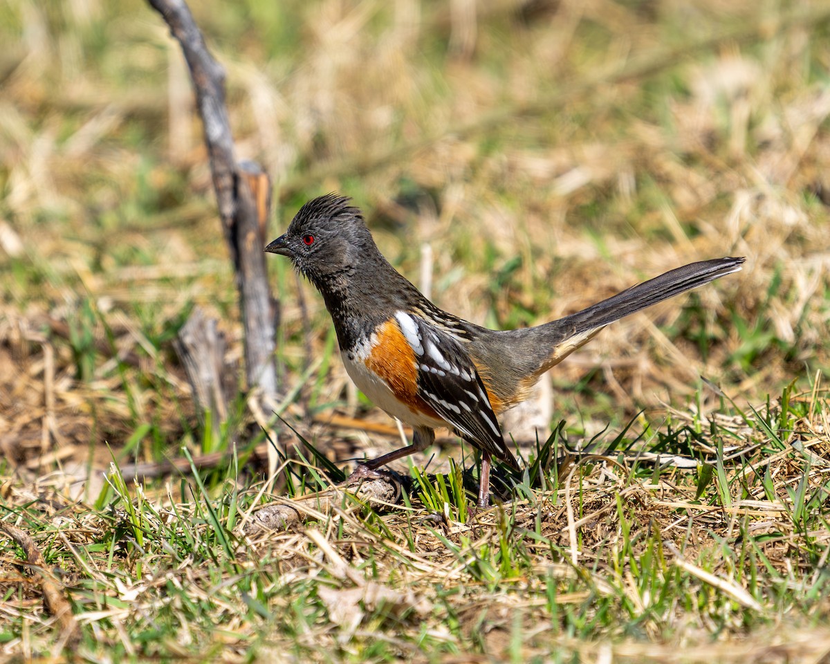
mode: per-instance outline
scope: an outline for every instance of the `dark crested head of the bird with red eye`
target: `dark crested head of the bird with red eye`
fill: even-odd
[[[378,253],[360,210],[334,193],[300,207],[286,233],[265,251],[291,258],[320,290],[348,280],[361,261]]]

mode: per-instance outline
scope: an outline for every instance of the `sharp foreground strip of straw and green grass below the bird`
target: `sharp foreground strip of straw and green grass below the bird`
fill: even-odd
[[[818,403],[823,393],[790,407]],[[779,404],[771,413],[781,423]],[[242,535],[257,486],[231,477],[211,497],[190,482],[189,496],[173,499],[128,491],[115,476],[112,508],[95,510],[67,504],[53,474],[7,485],[4,500],[62,569],[81,625],[95,627],[89,657],[221,649],[241,661],[256,646],[279,661],[457,661],[461,651],[815,662],[830,649],[818,627],[830,608],[830,442],[815,433],[826,418],[793,418],[782,445],[758,436],[761,420],[719,416],[718,431],[737,445],[723,483],[704,486],[700,500],[700,468],[653,474],[638,472],[636,458],[593,458],[563,470],[559,489],[472,524],[453,507],[434,520],[417,504],[376,512],[346,500],[329,515],[312,506],[298,529]],[[31,656],[59,633],[16,566],[10,556],[0,606],[9,627],[28,626],[9,647]]]

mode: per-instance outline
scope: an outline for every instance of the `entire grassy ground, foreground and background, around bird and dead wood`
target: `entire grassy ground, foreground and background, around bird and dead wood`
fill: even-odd
[[[194,305],[242,355],[177,47],[139,2],[0,2],[0,519],[64,570],[83,657],[821,661],[828,16],[722,4],[193,7],[227,67],[238,156],[275,180],[275,235],[305,199],[348,193],[437,304],[505,328],[748,257],[554,371],[569,447],[608,427],[608,459],[554,464],[554,486],[474,526],[452,500],[424,521],[416,489],[251,540],[257,491],[291,492],[300,471],[263,485],[251,461],[101,493],[113,456],[212,451],[171,345]],[[395,444],[330,423],[388,420],[350,388],[320,299],[272,265],[292,425],[337,461]],[[222,441],[244,461],[262,435],[242,423]],[[0,657],[59,657],[37,574],[0,545]]]

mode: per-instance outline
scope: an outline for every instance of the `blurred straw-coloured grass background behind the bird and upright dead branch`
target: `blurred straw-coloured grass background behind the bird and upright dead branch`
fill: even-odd
[[[662,403],[717,408],[701,374],[765,403],[827,371],[826,2],[191,8],[227,71],[237,159],[273,178],[272,237],[305,200],[347,194],[410,281],[502,329],[747,256],[554,369],[544,417],[592,434]],[[242,356],[180,48],[138,0],[2,0],[0,35],[0,452],[159,458],[200,439],[172,347],[194,306]],[[289,413],[389,423],[286,262],[269,268]]]

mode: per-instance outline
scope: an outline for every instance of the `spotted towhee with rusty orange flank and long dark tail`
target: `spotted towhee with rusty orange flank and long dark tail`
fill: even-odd
[[[524,330],[487,330],[438,309],[378,251],[357,207],[329,194],[305,203],[266,251],[288,256],[334,320],[346,371],[380,408],[414,429],[413,443],[364,464],[374,471],[421,452],[436,427],[481,450],[478,504],[491,457],[515,468],[496,415],[527,398],[545,371],[599,330],[666,298],[740,270],[744,258],[678,267],[588,309]]]

